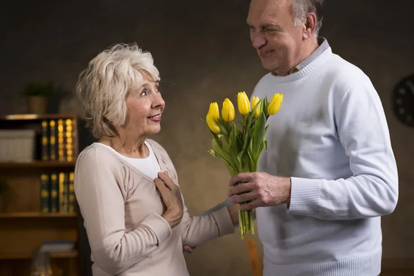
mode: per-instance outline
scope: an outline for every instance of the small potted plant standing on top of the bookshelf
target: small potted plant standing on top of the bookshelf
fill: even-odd
[[[23,95],[28,104],[28,113],[44,114],[48,110],[48,100],[55,94],[53,83],[26,83]]]

